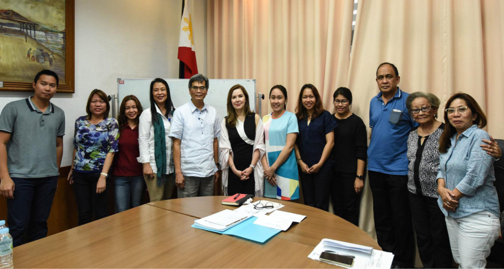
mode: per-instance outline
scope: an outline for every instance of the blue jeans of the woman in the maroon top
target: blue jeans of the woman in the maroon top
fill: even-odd
[[[138,207],[145,191],[144,176],[115,176],[115,213]]]

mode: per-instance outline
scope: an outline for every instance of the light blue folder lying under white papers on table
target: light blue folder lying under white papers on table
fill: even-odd
[[[241,238],[245,238],[251,241],[256,241],[259,243],[264,243],[268,241],[268,239],[272,238],[273,236],[277,235],[281,230],[279,229],[273,229],[261,225],[254,224],[254,221],[256,221],[256,217],[252,217],[236,226],[233,226],[223,232],[208,229],[202,226],[199,226],[197,224],[191,225],[191,227],[214,232],[214,233],[220,233],[220,234],[227,234],[227,235],[234,235],[238,236]]]

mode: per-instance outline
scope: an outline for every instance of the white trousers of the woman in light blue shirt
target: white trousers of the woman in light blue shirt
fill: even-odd
[[[458,219],[448,216],[445,220],[459,268],[484,268],[499,234],[499,219],[484,210]]]

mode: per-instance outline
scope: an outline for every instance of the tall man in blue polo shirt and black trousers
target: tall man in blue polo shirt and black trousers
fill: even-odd
[[[418,123],[406,108],[409,94],[397,87],[400,79],[394,64],[384,62],[378,66],[376,82],[380,93],[369,103],[371,141],[367,169],[378,244],[394,253],[394,266],[412,268],[414,241],[408,202],[406,141]]]

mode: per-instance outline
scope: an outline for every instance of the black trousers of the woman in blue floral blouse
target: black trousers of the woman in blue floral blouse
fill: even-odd
[[[79,212],[79,225],[99,220],[108,215],[109,184],[102,193],[96,193],[100,172],[82,173],[74,171],[74,192]],[[108,180],[107,180],[108,181]]]

